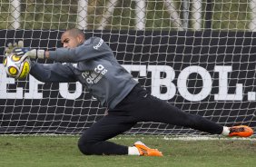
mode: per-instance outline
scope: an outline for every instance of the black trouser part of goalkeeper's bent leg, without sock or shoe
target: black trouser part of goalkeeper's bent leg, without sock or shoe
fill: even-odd
[[[131,129],[135,123],[132,116],[109,113],[82,134],[78,141],[78,147],[87,155],[128,154],[127,146],[106,140]]]

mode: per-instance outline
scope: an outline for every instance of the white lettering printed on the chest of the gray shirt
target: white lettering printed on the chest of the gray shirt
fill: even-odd
[[[86,83],[93,84],[98,83],[103,75],[107,73],[107,69],[102,64],[98,64],[94,71],[85,71],[82,73],[82,77],[85,79]]]

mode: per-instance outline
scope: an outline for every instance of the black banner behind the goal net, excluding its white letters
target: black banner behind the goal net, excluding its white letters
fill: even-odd
[[[58,30],[0,30],[5,40],[0,41],[0,54],[9,42],[23,39],[25,46],[54,50],[60,47]],[[200,114],[222,125],[247,124],[256,127],[255,101],[247,100],[248,92],[256,92],[255,33],[250,32],[159,32],[159,31],[86,31],[86,38],[100,36],[110,44],[120,64],[169,65],[175,70],[173,83],[182,69],[191,65],[202,66],[212,75],[212,92],[201,102],[189,102],[176,91],[170,103],[184,112]],[[3,57],[0,57],[3,61]],[[53,63],[51,61],[40,63]],[[242,101],[214,101],[219,92],[219,74],[214,73],[216,65],[231,65],[229,93],[235,93],[236,83],[243,85]],[[151,91],[151,73],[139,78]],[[164,77],[165,74],[162,74]],[[202,90],[200,75],[191,74],[188,80],[191,93]],[[74,90],[74,83],[69,84]],[[16,86],[28,89],[28,82],[18,81],[8,85],[14,92]],[[58,93],[58,84],[45,83],[39,87],[44,97],[40,100],[1,99],[0,133],[81,133],[103,116],[104,108],[91,101],[89,93],[73,100],[67,100]],[[166,89],[162,87],[162,93]],[[1,95],[1,94],[0,94]],[[190,129],[162,123],[138,123],[129,133],[198,133]]]

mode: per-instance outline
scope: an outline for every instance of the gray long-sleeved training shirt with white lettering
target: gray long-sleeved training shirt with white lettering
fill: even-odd
[[[99,37],[91,37],[75,48],[50,51],[50,59],[62,62],[32,62],[30,74],[44,83],[79,81],[100,103],[113,109],[137,84],[116,61],[111,48]]]

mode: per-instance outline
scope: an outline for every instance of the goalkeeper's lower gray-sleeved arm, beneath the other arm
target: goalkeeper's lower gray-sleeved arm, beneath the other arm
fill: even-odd
[[[72,68],[69,64],[38,64],[32,61],[30,74],[44,83],[70,83],[77,81]]]

